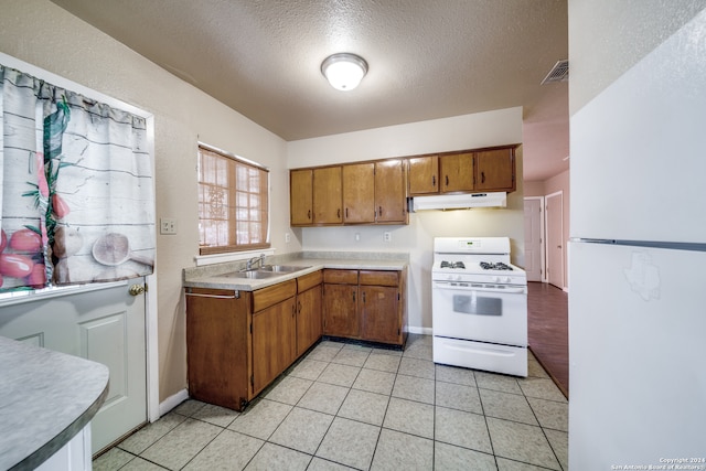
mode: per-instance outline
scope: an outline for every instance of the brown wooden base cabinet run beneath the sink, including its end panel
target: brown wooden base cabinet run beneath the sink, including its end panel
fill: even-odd
[[[191,397],[243,410],[321,338],[321,271],[300,279],[256,291],[186,288]]]

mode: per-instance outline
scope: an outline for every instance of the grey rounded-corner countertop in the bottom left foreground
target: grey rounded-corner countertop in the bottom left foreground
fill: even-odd
[[[0,336],[0,469],[34,469],[78,433],[108,395],[108,367]]]

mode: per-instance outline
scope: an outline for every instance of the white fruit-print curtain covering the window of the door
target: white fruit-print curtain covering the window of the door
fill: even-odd
[[[0,65],[0,290],[149,275],[142,117]]]

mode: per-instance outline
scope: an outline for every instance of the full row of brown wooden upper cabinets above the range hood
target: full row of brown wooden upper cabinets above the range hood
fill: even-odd
[[[291,225],[409,224],[407,196],[515,191],[515,148],[291,170]]]

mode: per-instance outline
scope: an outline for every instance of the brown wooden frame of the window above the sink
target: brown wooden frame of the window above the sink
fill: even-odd
[[[239,254],[239,253],[245,253],[245,251],[249,251],[249,250],[259,250],[259,249],[269,249],[271,247],[270,244],[270,204],[271,204],[271,197],[270,197],[270,193],[271,193],[271,188],[270,188],[270,170],[269,168],[254,162],[249,159],[245,159],[240,156],[236,156],[233,154],[231,152],[224,151],[222,149],[218,149],[216,147],[206,144],[204,142],[199,142],[197,143],[197,163],[196,163],[196,183],[199,186],[199,200],[197,200],[197,204],[199,204],[199,255],[200,256],[208,256],[208,255],[222,255],[222,254]],[[248,169],[256,169],[260,172],[264,172],[265,174],[265,180],[266,180],[266,189],[264,191],[260,190],[259,195],[260,197],[266,197],[267,199],[267,204],[265,205],[266,207],[264,207],[263,210],[258,210],[260,211],[260,213],[264,215],[264,220],[265,221],[265,227],[263,229],[263,232],[260,232],[260,235],[263,235],[265,237],[265,240],[261,243],[255,243],[255,244],[237,244],[237,225],[238,225],[238,220],[237,220],[237,210],[236,210],[236,205],[235,205],[235,201],[236,201],[236,194],[238,192],[237,186],[234,186],[234,184],[237,184],[237,179],[234,179],[233,181],[228,178],[228,186],[227,186],[227,200],[228,200],[228,207],[231,207],[231,215],[228,215],[228,244],[227,245],[202,245],[203,244],[203,238],[202,238],[202,224],[203,224],[203,220],[202,220],[202,185],[204,184],[204,182],[202,182],[202,173],[201,173],[201,164],[202,164],[202,150],[211,153],[211,154],[215,154],[217,157],[224,158],[224,159],[228,159],[231,161],[235,162],[235,165],[242,165]],[[237,168],[237,167],[236,167]],[[261,176],[261,174],[260,174]]]

